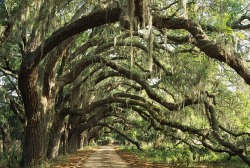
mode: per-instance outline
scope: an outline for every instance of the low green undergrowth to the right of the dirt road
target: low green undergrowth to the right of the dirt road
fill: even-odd
[[[242,167],[247,166],[239,159],[233,158],[228,161],[228,155],[217,155],[203,147],[194,147],[193,149],[187,146],[165,146],[161,149],[146,148],[144,151],[139,151],[134,147],[123,146],[122,149],[132,153],[141,160],[158,163],[168,163],[171,166],[182,167]]]

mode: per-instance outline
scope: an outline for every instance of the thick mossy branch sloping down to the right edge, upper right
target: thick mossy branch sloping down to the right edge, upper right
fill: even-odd
[[[244,61],[227,50],[226,46],[209,40],[207,34],[202,30],[202,27],[198,23],[188,19],[164,18],[155,15],[153,17],[153,25],[159,29],[168,28],[187,30],[196,39],[195,45],[201,51],[203,51],[208,57],[229,65],[248,85],[250,85],[250,69],[245,66]]]

